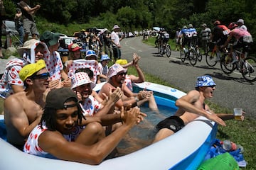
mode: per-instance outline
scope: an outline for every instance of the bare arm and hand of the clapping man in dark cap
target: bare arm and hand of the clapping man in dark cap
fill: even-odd
[[[43,151],[53,154],[58,159],[84,164],[100,164],[117,147],[124,135],[137,124],[139,115],[139,108],[131,108],[124,113],[123,124],[94,145],[68,142],[60,132],[50,130],[46,130],[38,137],[38,145]]]

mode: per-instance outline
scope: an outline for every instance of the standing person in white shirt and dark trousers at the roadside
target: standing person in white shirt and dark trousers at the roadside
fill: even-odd
[[[114,62],[117,60],[121,59],[121,44],[120,41],[122,38],[119,38],[119,26],[114,25],[112,28],[112,33],[111,33],[111,41],[112,41],[112,47],[113,47],[113,54],[114,54]]]

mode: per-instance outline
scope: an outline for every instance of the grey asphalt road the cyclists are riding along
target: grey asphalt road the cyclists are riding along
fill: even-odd
[[[132,54],[136,52],[142,57],[139,65],[143,72],[159,77],[182,91],[194,89],[196,77],[210,75],[217,84],[214,97],[210,99],[213,103],[226,108],[241,107],[248,118],[256,118],[256,82],[248,83],[239,72],[223,74],[220,64],[208,67],[204,57],[193,67],[187,60],[181,62],[176,51],[171,52],[170,58],[162,57],[155,47],[142,43],[142,37],[123,39],[121,45],[123,59],[131,61]]]

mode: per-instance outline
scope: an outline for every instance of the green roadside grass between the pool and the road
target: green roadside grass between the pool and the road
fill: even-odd
[[[155,38],[149,38],[146,42],[148,45],[154,45]],[[171,49],[175,49],[175,41],[169,40],[169,45],[171,45]],[[132,70],[133,69],[133,70]],[[134,68],[129,68],[128,72],[132,74],[136,74],[136,70]],[[158,77],[151,76],[145,73],[146,81],[151,81],[156,84],[163,84],[166,86],[172,86],[171,84],[166,83],[159,79]],[[174,86],[172,86],[174,87]],[[177,88],[177,87],[175,87]],[[177,88],[178,89],[178,88]],[[182,91],[182,89],[179,89]],[[185,91],[187,92],[187,91]],[[229,108],[223,108],[218,106],[217,104],[206,101],[206,103],[210,106],[210,108],[215,111],[215,113],[232,113]],[[245,169],[256,169],[256,120],[253,118],[245,118],[244,121],[238,120],[227,120],[225,121],[226,125],[218,126],[217,138],[219,140],[230,140],[235,142],[236,144],[242,145],[244,147],[245,152],[243,153],[245,157],[245,161],[248,163]]]

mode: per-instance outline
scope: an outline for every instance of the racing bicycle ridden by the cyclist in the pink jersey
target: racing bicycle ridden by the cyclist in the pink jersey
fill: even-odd
[[[245,52],[245,57],[242,58],[242,50],[235,50],[236,55],[238,56],[238,62],[233,62],[233,57],[231,52],[228,50],[224,52],[223,56],[220,58],[220,68],[225,74],[231,74],[237,69],[242,77],[248,81],[256,81],[256,59],[255,57],[247,56]]]

